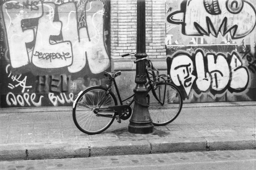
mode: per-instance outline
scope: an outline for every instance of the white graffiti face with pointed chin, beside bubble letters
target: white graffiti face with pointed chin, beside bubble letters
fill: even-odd
[[[175,85],[183,85],[187,96],[196,78],[192,75],[193,69],[193,62],[187,55],[178,55],[172,60],[170,70],[171,79]]]

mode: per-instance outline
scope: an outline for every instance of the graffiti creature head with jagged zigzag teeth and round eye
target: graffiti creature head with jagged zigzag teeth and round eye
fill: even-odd
[[[230,33],[232,39],[240,39],[254,29],[256,10],[246,0],[187,0],[180,11],[171,11],[167,21],[182,24],[182,33],[188,36]]]

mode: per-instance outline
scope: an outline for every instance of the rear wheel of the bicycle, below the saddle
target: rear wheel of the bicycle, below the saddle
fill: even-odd
[[[103,86],[91,86],[85,89],[75,99],[73,104],[73,120],[76,127],[80,131],[86,134],[98,134],[105,131],[113,123],[116,116],[115,112],[113,112],[113,114],[109,112],[99,113],[103,115],[111,114],[113,117],[110,118],[110,117],[96,116],[93,110],[99,107],[102,104],[102,102],[103,102],[102,107],[118,105],[117,99],[113,94],[113,92],[111,91],[109,92],[108,97],[105,99],[105,91],[106,91],[106,88]]]

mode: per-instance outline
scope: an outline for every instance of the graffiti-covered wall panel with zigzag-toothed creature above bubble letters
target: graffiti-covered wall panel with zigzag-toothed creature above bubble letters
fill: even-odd
[[[168,74],[184,102],[256,100],[256,2],[166,0]]]

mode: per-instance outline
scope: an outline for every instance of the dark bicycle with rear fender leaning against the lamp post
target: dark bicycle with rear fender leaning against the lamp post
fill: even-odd
[[[122,57],[130,54],[136,53],[123,54]],[[155,126],[166,125],[180,114],[183,104],[181,92],[170,83],[169,75],[159,75],[159,71],[153,67],[149,59],[138,59],[134,63],[143,60],[146,60],[147,107],[152,123]],[[121,75],[121,71],[104,72],[105,78],[110,80],[106,87],[101,85],[90,86],[76,96],[73,102],[73,120],[80,131],[87,134],[98,134],[105,131],[114,119],[121,123],[121,119],[126,120],[131,116],[132,109],[130,106],[134,101],[136,102],[136,96],[133,94],[121,100],[115,81],[115,78],[119,75]],[[120,105],[118,105],[117,99],[111,91],[112,84],[115,86]],[[132,97],[134,98],[129,101]],[[123,104],[126,100],[126,104]]]

